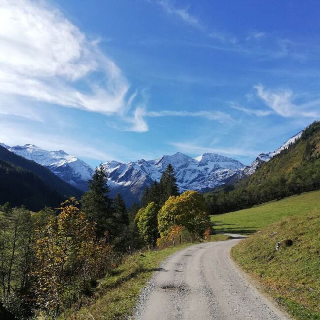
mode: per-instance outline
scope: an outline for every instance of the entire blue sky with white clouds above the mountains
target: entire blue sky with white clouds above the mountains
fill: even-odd
[[[320,119],[320,2],[0,0],[0,142],[95,167],[249,164]]]

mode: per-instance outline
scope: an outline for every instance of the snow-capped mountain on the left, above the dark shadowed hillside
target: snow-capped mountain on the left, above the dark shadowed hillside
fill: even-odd
[[[88,179],[94,170],[84,161],[70,156],[63,150],[47,151],[33,144],[6,148],[15,154],[49,168],[59,178],[80,190],[88,190]]]

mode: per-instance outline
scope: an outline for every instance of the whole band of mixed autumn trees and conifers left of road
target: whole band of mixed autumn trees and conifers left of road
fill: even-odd
[[[204,198],[179,195],[171,165],[144,193],[142,208],[135,203],[127,210],[120,194],[111,199],[106,177],[103,166],[96,168],[81,200],[57,209],[31,215],[24,207],[2,206],[0,318],[70,318],[125,254],[210,234]]]

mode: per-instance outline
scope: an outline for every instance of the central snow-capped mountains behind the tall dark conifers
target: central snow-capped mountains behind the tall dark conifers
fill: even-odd
[[[188,189],[201,192],[209,190],[223,184],[228,177],[245,167],[235,159],[213,153],[192,158],[180,152],[149,161],[111,161],[104,163],[104,167],[108,173],[111,192],[127,190],[132,200],[137,201],[145,187],[150,186],[154,180],[160,180],[169,163],[175,171],[180,192]]]

